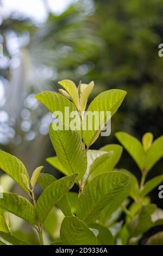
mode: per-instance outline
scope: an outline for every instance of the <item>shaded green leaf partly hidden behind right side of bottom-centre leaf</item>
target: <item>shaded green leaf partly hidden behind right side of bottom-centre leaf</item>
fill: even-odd
[[[114,245],[114,237],[108,228],[98,223],[91,223],[90,227],[98,230],[97,245]]]

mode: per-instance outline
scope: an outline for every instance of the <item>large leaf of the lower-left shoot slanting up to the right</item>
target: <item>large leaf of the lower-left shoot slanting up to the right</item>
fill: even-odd
[[[36,203],[36,214],[40,223],[44,223],[53,206],[72,188],[78,174],[66,176],[45,188]]]

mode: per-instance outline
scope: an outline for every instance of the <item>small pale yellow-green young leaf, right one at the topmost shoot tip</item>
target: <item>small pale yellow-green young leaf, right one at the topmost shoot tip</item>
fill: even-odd
[[[94,82],[90,82],[89,84],[80,83],[79,85],[79,100],[80,100],[80,111],[85,111],[87,100],[93,90]]]

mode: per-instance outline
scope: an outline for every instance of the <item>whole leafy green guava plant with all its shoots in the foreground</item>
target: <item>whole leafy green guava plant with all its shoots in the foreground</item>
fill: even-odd
[[[147,194],[160,182],[163,175],[151,181],[146,180],[149,170],[163,154],[162,137],[152,143],[151,133],[143,136],[143,145],[127,133],[117,133],[116,137],[133,156],[141,169],[141,184],[128,170],[115,169],[122,154],[122,147],[109,144],[99,150],[90,146],[97,140],[103,126],[106,125],[107,113],[114,115],[120,107],[126,92],[112,89],[99,94],[87,106],[87,99],[94,83],[70,81],[59,82],[64,89],[57,92],[42,92],[36,99],[52,113],[61,112],[57,118],[57,129],[49,125],[49,136],[57,156],[49,157],[47,162],[60,170],[64,177],[56,179],[53,175],[41,173],[42,166],[36,168],[29,178],[24,164],[15,156],[0,151],[0,168],[8,174],[26,192],[26,197],[15,193],[3,193],[0,198],[0,243],[11,245],[29,245],[12,234],[7,212],[28,222],[38,233],[40,244],[45,244],[43,229],[49,234],[51,245],[114,245],[132,244],[141,239],[141,235],[154,225],[162,224],[162,211],[150,203]],[[70,112],[77,111],[76,122],[80,129],[75,129],[72,117],[67,118],[65,107]],[[86,112],[85,112],[86,110]],[[95,122],[92,129],[86,124],[86,113],[104,113],[102,122]],[[80,120],[80,122],[79,122]],[[99,120],[98,120],[99,121]],[[97,127],[98,123],[98,127]],[[55,123],[56,124],[56,123]],[[95,127],[96,126],[96,127]],[[98,128],[98,129],[97,129]],[[35,199],[35,185],[39,182],[43,192]],[[78,193],[70,191],[76,184]],[[52,228],[55,225],[54,207],[60,209],[64,219],[60,225],[60,235],[54,239]],[[122,211],[124,221],[118,221]],[[159,211],[159,214],[158,214]],[[161,213],[160,213],[161,212]],[[47,228],[47,220],[52,216]],[[162,241],[162,233],[149,238],[147,244]]]

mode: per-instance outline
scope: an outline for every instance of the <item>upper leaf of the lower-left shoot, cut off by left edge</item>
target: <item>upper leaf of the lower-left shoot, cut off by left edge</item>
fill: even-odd
[[[29,194],[29,191],[24,185],[21,176],[21,173],[24,173],[29,180],[28,172],[24,164],[19,159],[17,159],[17,157],[12,156],[4,151],[0,151],[0,168]]]

